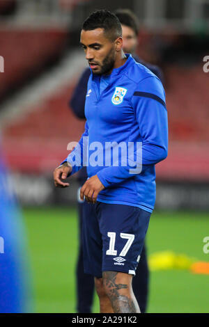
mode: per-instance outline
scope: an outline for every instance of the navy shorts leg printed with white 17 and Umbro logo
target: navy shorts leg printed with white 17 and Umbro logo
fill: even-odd
[[[102,202],[96,203],[95,213],[102,234],[102,271],[135,275],[150,213],[139,207]]]

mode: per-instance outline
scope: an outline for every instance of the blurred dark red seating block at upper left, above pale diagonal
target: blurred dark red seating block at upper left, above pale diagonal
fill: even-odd
[[[0,75],[0,100],[11,89],[41,71],[52,58],[58,57],[67,40],[65,29],[1,29],[1,56],[5,58],[5,72]]]

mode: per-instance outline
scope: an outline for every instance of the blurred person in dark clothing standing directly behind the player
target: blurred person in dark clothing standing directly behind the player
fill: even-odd
[[[150,63],[145,63],[135,54],[137,45],[140,42],[139,38],[139,22],[137,17],[129,9],[118,9],[115,15],[121,22],[123,30],[123,51],[128,54],[132,54],[135,61],[141,63],[148,67],[157,77],[162,81],[162,72],[159,67],[155,65],[150,65]],[[87,83],[88,78],[91,74],[90,68],[84,70],[79,82],[75,88],[75,91],[70,99],[70,108],[75,113],[77,118],[86,119],[84,115],[84,106],[86,100]],[[78,182],[79,189],[77,193],[78,198],[78,212],[79,212],[79,254],[77,259],[77,312],[88,313],[91,312],[91,306],[93,303],[93,293],[94,293],[94,279],[93,276],[84,273],[84,263],[83,263],[83,250],[82,250],[82,216],[84,205],[82,200],[79,198],[79,190],[82,185],[86,182],[87,173],[86,167],[79,170]],[[89,210],[88,214],[95,216],[94,205],[88,204]],[[146,312],[147,301],[148,301],[148,262],[146,256],[146,247],[144,246],[139,264],[137,266],[136,276],[133,278],[132,287],[134,290],[134,295],[139,303],[139,308],[141,312]]]

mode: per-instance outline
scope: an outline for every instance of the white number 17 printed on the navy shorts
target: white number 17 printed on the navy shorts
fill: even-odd
[[[117,250],[115,250],[115,243],[116,243],[116,233],[115,232],[108,232],[107,236],[110,238],[109,241],[109,250],[106,251],[107,255],[117,255]],[[133,241],[134,241],[134,234],[126,234],[126,233],[121,233],[120,234],[121,239],[127,239],[127,242],[119,254],[120,257],[125,257],[127,254],[127,251],[130,249]]]

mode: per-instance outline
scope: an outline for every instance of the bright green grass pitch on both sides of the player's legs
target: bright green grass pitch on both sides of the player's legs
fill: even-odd
[[[77,210],[72,207],[24,208],[35,312],[76,312],[75,262]],[[148,254],[173,250],[197,260],[209,236],[207,213],[154,212],[146,237]],[[209,275],[189,271],[150,273],[148,312],[209,312]],[[93,312],[99,312],[95,296]]]

